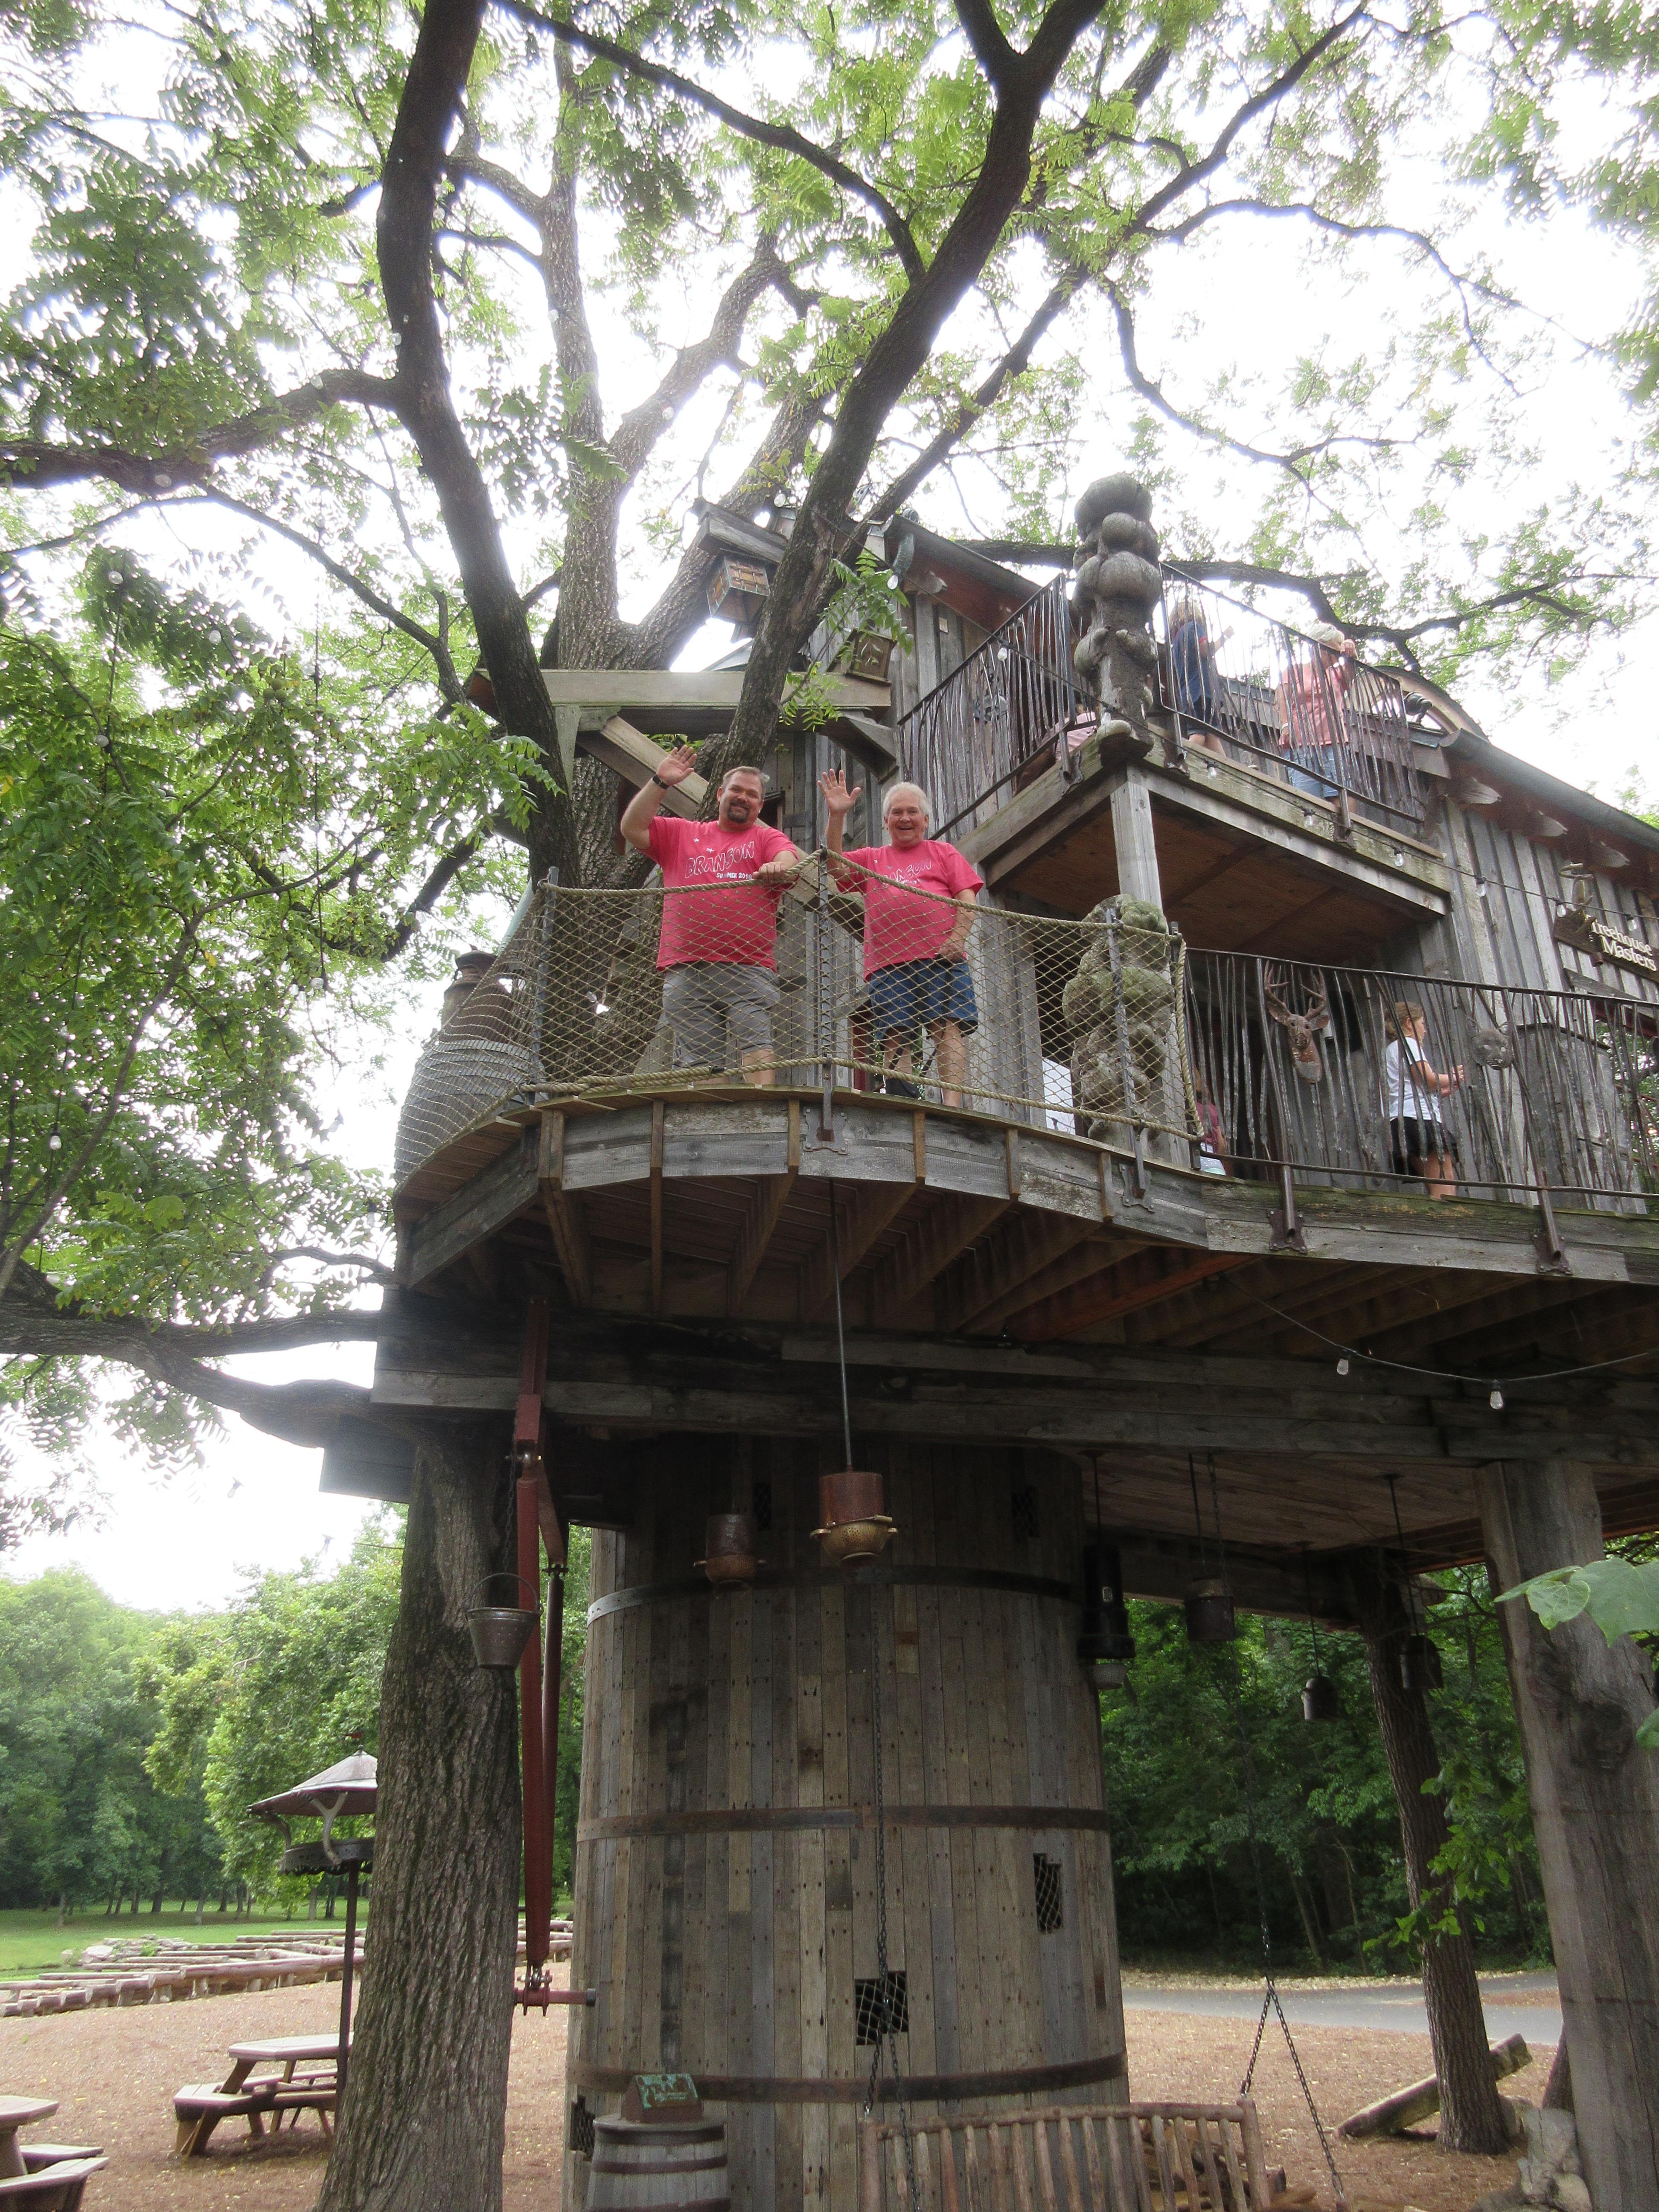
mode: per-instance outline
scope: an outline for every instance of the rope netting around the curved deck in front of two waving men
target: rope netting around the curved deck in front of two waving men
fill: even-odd
[[[544,885],[427,1042],[396,1175],[509,1104],[719,1084],[885,1091],[1133,1148],[1203,1135],[1186,945],[1157,907],[1082,920],[940,898],[832,854],[790,883]]]

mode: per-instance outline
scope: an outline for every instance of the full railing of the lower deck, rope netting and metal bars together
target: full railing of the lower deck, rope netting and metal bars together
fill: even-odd
[[[1659,1044],[1630,1000],[1199,953],[1135,902],[962,907],[825,854],[770,891],[538,891],[420,1057],[398,1177],[504,1099],[743,1082],[1234,1179],[1659,1197]]]

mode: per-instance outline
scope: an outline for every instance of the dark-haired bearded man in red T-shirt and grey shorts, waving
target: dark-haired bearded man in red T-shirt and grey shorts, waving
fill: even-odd
[[[759,768],[726,772],[712,823],[661,814],[668,792],[695,768],[695,748],[675,745],[628,801],[622,834],[657,863],[668,894],[657,967],[675,1066],[737,1066],[743,1082],[765,1086],[776,1075],[779,898],[805,856],[761,821],[765,776]]]

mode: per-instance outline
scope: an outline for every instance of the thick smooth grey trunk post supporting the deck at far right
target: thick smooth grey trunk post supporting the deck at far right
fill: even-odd
[[[1484,1467],[1495,1588],[1601,1557],[1590,1469]],[[1652,1672],[1586,1619],[1500,1606],[1544,1867],[1579,2154],[1595,2212],[1659,2208],[1659,1756],[1635,1743]]]

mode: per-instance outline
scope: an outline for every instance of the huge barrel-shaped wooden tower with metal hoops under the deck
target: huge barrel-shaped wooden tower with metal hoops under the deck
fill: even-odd
[[[593,1544],[573,1982],[597,2002],[571,2015],[568,2097],[604,2115],[635,2073],[690,2073],[737,2212],[858,2201],[883,1858],[914,2112],[1126,2095],[1075,1467],[858,1455],[898,1535],[852,1575],[812,1544],[827,1462],[794,1440],[657,1440],[633,1524]],[[763,1566],[717,1595],[692,1562],[730,1511]],[[573,2150],[566,2212],[586,2190]]]

